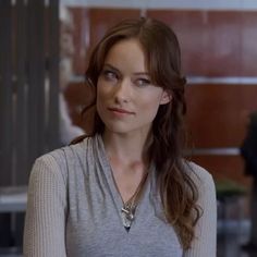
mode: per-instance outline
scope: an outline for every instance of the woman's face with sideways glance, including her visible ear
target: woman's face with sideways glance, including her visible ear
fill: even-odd
[[[117,42],[97,83],[97,111],[106,130],[147,135],[159,106],[169,101],[168,94],[151,83],[139,41]]]

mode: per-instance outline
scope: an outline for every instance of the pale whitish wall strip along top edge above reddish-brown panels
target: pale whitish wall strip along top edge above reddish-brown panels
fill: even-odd
[[[257,10],[257,0],[60,0],[71,7],[191,10]]]

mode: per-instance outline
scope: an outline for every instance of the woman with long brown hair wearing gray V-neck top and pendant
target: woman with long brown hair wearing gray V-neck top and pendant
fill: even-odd
[[[118,24],[96,46],[86,81],[93,133],[34,164],[25,256],[216,256],[213,181],[182,158],[174,33],[150,19]]]

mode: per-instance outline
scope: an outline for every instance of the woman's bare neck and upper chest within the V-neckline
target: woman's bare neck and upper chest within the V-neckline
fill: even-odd
[[[145,144],[147,137],[137,135],[106,131],[102,136],[113,179],[123,203],[133,197],[148,170]]]

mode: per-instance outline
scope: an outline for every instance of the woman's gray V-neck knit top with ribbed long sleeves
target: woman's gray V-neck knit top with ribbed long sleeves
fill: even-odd
[[[25,257],[215,257],[217,204],[211,175],[189,163],[203,216],[183,252],[163,215],[154,166],[127,232],[101,136],[54,150],[33,167],[24,230]],[[192,172],[188,169],[188,172]],[[192,172],[193,175],[193,172]]]

